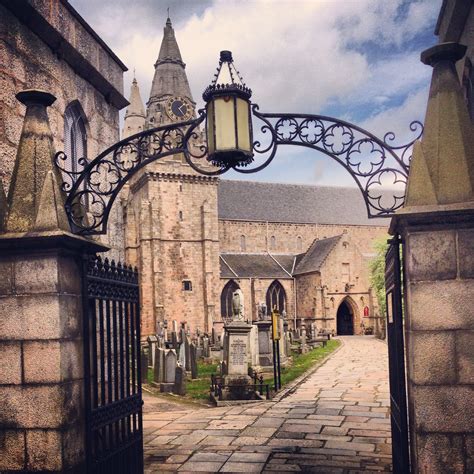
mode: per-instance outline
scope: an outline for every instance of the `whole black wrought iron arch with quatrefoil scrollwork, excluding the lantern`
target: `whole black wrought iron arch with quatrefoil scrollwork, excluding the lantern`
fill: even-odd
[[[216,176],[233,168],[240,173],[255,173],[268,166],[280,145],[296,145],[322,152],[342,165],[357,183],[368,217],[390,217],[402,207],[411,147],[420,138],[423,125],[414,121],[410,130],[416,136],[404,145],[395,145],[395,134],[383,139],[349,122],[308,114],[271,114],[252,105],[254,162],[248,165],[216,167],[207,160],[207,145],[200,125],[204,110],[187,122],[163,125],[127,137],[112,145],[81,170],[67,170],[67,156],[59,152],[55,163],[65,173],[66,213],[73,232],[103,234],[115,198],[124,184],[147,164],[182,153],[198,173]],[[399,185],[390,192],[387,184]],[[82,203],[87,202],[85,209]]]

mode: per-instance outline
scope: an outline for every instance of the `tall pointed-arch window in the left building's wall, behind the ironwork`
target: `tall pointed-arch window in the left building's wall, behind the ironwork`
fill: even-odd
[[[65,168],[77,172],[81,159],[87,159],[86,118],[79,102],[71,102],[64,111]]]

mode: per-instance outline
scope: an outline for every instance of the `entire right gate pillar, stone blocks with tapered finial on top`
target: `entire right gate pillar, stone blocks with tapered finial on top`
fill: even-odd
[[[474,471],[474,129],[454,63],[439,44],[422,142],[405,208],[391,223],[404,244],[410,451],[414,472]]]

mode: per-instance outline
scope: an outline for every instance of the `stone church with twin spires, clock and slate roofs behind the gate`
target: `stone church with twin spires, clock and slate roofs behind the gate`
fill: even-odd
[[[133,79],[123,138],[195,116],[169,18],[154,68],[146,107]],[[387,221],[367,218],[357,188],[208,177],[173,155],[138,172],[124,194],[125,257],[141,275],[142,336],[172,321],[220,331],[238,288],[248,320],[277,307],[295,328],[304,321],[361,334],[377,326],[368,263]]]

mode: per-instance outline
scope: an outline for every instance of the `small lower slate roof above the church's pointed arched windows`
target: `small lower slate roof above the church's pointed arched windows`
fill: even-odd
[[[294,260],[292,255],[275,257],[286,266]],[[269,254],[224,253],[220,261],[221,278],[291,278]]]

